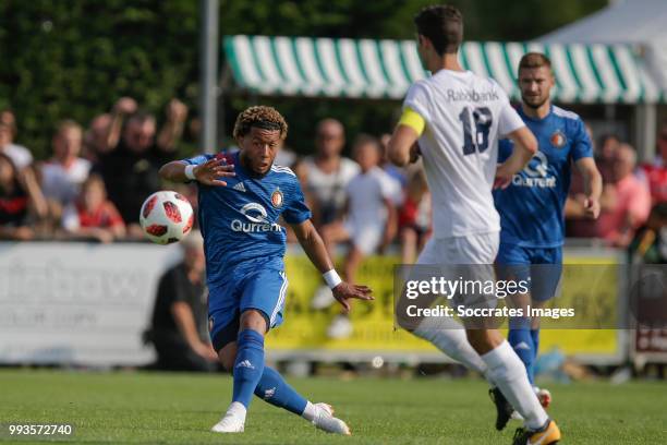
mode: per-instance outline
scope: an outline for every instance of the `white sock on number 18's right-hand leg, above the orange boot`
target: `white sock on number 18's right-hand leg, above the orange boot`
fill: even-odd
[[[488,368],[489,377],[496,383],[502,395],[525,419],[531,430],[542,428],[548,419],[535,392],[527,380],[525,366],[507,341],[482,356]]]

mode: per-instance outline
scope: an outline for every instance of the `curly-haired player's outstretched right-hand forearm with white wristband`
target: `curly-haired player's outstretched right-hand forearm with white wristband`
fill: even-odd
[[[368,287],[351,285],[340,279],[336,269],[333,269],[333,263],[327,253],[324,241],[310,219],[301,224],[291,225],[291,227],[306,255],[308,255],[311,262],[323,274],[327,285],[331,288],[333,298],[344,308],[345,312],[350,311],[350,302],[348,300],[351,298],[373,300],[372,291]]]

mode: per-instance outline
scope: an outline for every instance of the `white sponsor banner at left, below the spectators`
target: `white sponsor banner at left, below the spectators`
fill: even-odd
[[[175,246],[0,243],[0,362],[141,365]]]

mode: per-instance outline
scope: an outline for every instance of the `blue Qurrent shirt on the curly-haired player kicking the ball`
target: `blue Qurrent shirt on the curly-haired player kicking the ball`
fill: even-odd
[[[213,157],[233,164],[237,176],[223,178],[227,187],[197,182],[199,228],[211,288],[229,279],[238,267],[282,266],[287,234],[279,218],[288,224],[311,218],[299,179],[289,168],[274,165],[258,177],[241,165],[239,153],[201,155],[183,161],[199,165]]]

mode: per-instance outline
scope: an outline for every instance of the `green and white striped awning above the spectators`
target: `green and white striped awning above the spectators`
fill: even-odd
[[[516,71],[527,51],[553,62],[560,103],[635,104],[665,100],[641,57],[627,45],[465,43],[461,63],[494,77],[519,97]],[[426,75],[413,40],[226,36],[225,56],[235,84],[259,95],[403,97]]]

